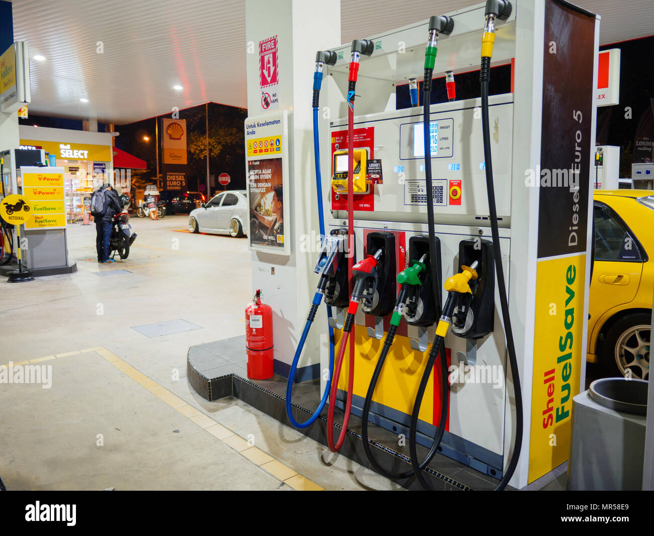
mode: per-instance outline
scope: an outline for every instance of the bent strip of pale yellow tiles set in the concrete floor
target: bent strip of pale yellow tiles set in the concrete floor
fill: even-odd
[[[243,457],[246,457],[251,463],[254,463],[254,465],[257,465],[258,467],[261,467],[266,471],[266,473],[271,474],[277,480],[280,482],[283,482],[290,488],[298,491],[322,491],[324,488],[321,488],[316,484],[315,482],[311,482],[308,478],[305,478],[301,474],[298,474],[296,471],[291,469],[290,467],[287,467],[281,461],[276,459],[274,456],[271,456],[267,452],[264,452],[263,450],[260,450],[259,448],[256,448],[255,446],[252,446],[247,440],[239,436],[238,434],[234,433],[232,430],[228,429],[227,427],[223,426],[220,423],[217,423],[215,420],[213,420],[211,417],[203,414],[200,412],[197,408],[194,408],[190,404],[187,404],[184,402],[181,398],[177,397],[171,391],[168,391],[168,389],[165,389],[162,387],[162,385],[159,385],[157,382],[154,380],[150,380],[148,376],[140,372],[139,370],[133,368],[133,366],[129,365],[126,361],[123,361],[109,351],[106,348],[103,348],[102,346],[97,346],[96,348],[87,348],[84,350],[78,350],[78,351],[71,351],[67,353],[60,353],[57,355],[48,355],[47,357],[40,357],[39,359],[29,359],[29,361],[20,361],[18,363],[12,363],[12,365],[17,366],[17,365],[27,365],[28,363],[39,363],[41,361],[48,361],[50,359],[59,359],[61,357],[67,357],[69,355],[79,355],[80,353],[88,353],[94,351],[98,355],[101,355],[104,359],[106,359],[111,365],[115,366],[128,376],[128,378],[131,378],[137,384],[141,385],[142,387],[145,387],[145,389],[148,389],[150,393],[155,395],[156,397],[162,399],[163,402],[177,410],[177,412],[181,413],[184,417],[186,417],[188,420],[193,421],[196,425],[201,427],[202,429],[205,429],[208,433],[213,435],[216,439],[222,441],[224,444],[227,446],[230,446],[235,450],[236,452],[239,452]],[[9,363],[7,366],[9,367]]]

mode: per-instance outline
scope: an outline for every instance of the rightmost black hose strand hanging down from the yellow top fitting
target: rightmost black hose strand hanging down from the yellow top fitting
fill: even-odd
[[[504,283],[504,268],[502,267],[502,251],[500,250],[500,232],[497,224],[497,209],[495,206],[495,188],[492,176],[492,158],[490,151],[490,126],[489,126],[489,79],[490,79],[490,58],[481,58],[481,128],[484,138],[484,160],[486,162],[486,190],[489,200],[490,231],[492,233],[492,247],[495,257],[495,273],[497,274],[498,291],[500,294],[500,306],[502,308],[502,321],[504,322],[504,334],[506,334],[506,349],[509,354],[511,365],[511,376],[513,378],[513,393],[515,396],[515,443],[513,454],[509,465],[502,475],[502,480],[495,488],[496,491],[503,490],[511,480],[515,467],[518,465],[520,450],[523,444],[523,395],[520,385],[520,374],[518,360],[515,356],[515,344],[513,342],[513,330],[511,329],[511,318],[509,317],[509,300]]]

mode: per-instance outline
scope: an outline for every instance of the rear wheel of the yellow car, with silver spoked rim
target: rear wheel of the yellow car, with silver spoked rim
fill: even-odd
[[[602,363],[611,376],[649,380],[651,315],[632,313],[615,322],[606,332]]]

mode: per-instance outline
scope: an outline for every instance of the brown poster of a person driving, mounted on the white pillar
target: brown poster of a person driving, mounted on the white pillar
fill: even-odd
[[[281,158],[249,160],[250,245],[284,247],[284,187]]]

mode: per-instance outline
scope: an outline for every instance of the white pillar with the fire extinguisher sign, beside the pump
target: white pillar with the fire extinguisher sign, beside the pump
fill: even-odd
[[[290,257],[273,253],[252,252],[252,287],[262,289],[263,301],[273,308],[275,372],[286,375],[317,285],[313,273],[317,251],[303,245],[315,243],[307,234],[318,234],[318,210],[315,191],[313,126],[311,100],[313,70],[318,50],[341,42],[341,4],[339,0],[307,1],[247,0],[245,5],[247,41],[248,115],[266,113],[260,86],[259,43],[277,36],[279,83],[266,92],[275,91],[279,107],[271,111],[289,111],[288,185],[284,204],[289,209],[284,221],[284,239],[291,241]],[[322,129],[328,122],[322,121]],[[321,155],[328,158],[328,155]],[[323,192],[326,196],[328,192]],[[317,378],[320,374],[320,344],[326,345],[327,319],[320,309],[305,351],[300,360],[299,379]],[[321,343],[322,341],[322,343]]]

